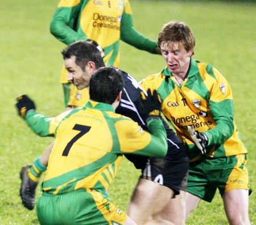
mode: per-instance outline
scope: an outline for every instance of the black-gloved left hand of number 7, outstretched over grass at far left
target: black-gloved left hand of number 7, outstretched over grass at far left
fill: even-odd
[[[19,116],[22,118],[26,117],[27,111],[33,109],[35,110],[35,103],[27,95],[20,95],[17,97],[16,109]]]

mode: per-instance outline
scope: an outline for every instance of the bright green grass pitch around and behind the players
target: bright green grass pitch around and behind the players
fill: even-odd
[[[57,0],[2,0],[0,14],[0,224],[39,224],[36,212],[26,210],[19,198],[19,171],[47,147],[51,138],[39,138],[16,115],[19,94],[30,95],[38,111],[56,116],[64,111],[59,84],[64,44],[49,33]],[[196,36],[194,58],[217,67],[233,88],[235,119],[249,150],[250,186],[256,191],[255,138],[255,31],[256,4],[246,1],[130,0],[135,27],[156,39],[170,20],[182,20]],[[164,67],[160,56],[121,45],[121,69],[140,80]],[[110,189],[112,201],[126,210],[139,176],[123,160]],[[40,190],[38,189],[38,196]],[[256,224],[256,195],[250,196],[251,224]],[[194,224],[228,224],[218,193],[212,203],[201,202],[187,221]]]

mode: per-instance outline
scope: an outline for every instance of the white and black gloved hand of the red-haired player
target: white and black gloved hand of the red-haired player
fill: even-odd
[[[194,130],[192,126],[188,126],[188,132],[193,142],[195,142],[196,146],[201,150],[202,154],[207,154],[207,150],[205,148],[205,146],[208,145],[207,135]]]

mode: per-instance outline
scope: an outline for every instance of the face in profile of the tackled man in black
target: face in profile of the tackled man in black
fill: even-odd
[[[85,71],[82,71],[81,67],[76,64],[75,56],[65,59],[64,65],[68,71],[68,81],[72,82],[77,89],[81,90],[89,86],[92,71],[88,68],[88,66],[85,66]]]

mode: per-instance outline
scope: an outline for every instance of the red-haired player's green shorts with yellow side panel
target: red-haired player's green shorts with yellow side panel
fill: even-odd
[[[204,158],[189,164],[187,192],[211,202],[216,189],[221,196],[234,189],[249,189],[247,155]]]

